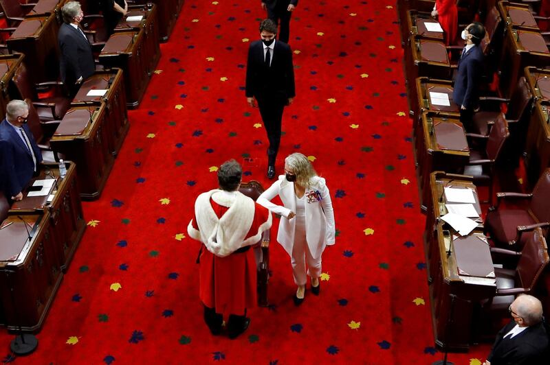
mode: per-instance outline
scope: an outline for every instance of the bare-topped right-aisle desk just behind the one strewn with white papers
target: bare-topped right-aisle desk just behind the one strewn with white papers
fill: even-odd
[[[424,112],[419,131],[415,137],[417,178],[421,211],[426,213],[431,206],[432,195],[439,193],[430,190],[430,174],[434,171],[461,173],[470,160],[470,150],[458,117]],[[442,193],[441,189],[438,197],[443,197]]]

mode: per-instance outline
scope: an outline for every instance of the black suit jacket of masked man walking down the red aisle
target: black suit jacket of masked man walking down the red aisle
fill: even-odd
[[[275,41],[271,67],[265,66],[263,43],[256,40],[248,49],[246,66],[246,96],[256,99],[270,98],[286,103],[296,96],[292,50],[286,43]]]

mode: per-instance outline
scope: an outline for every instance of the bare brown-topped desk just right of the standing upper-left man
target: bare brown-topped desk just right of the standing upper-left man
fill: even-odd
[[[116,32],[107,40],[99,55],[104,69],[116,67],[124,71],[126,106],[131,109],[140,105],[151,78],[146,67],[149,55],[145,53],[144,34],[143,28],[137,32]]]

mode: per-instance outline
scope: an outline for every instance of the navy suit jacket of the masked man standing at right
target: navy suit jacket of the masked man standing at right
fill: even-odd
[[[483,74],[483,52],[476,45],[459,60],[459,69],[454,80],[452,99],[459,106],[473,109],[478,104],[478,88]]]

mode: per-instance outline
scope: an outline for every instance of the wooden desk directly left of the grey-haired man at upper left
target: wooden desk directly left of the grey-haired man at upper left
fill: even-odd
[[[58,30],[59,24],[53,15],[28,16],[6,41],[10,51],[25,54],[23,62],[34,83],[57,80]]]

